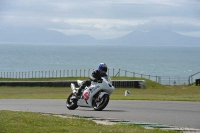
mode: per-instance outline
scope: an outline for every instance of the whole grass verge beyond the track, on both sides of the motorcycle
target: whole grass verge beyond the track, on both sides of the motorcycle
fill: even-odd
[[[56,78],[35,79],[36,81],[47,80],[77,80],[81,78]],[[88,78],[82,78],[85,80]],[[117,77],[114,80],[135,80],[135,78]],[[23,80],[23,79],[19,79]],[[27,79],[30,80],[30,79]],[[141,80],[141,79],[140,79]],[[156,82],[146,80],[146,89],[116,88],[111,95],[111,100],[167,100],[167,101],[200,101],[200,86],[164,86]],[[33,81],[33,80],[31,80]],[[125,90],[131,92],[125,96]],[[70,87],[0,87],[0,98],[5,99],[66,99],[71,93]]]

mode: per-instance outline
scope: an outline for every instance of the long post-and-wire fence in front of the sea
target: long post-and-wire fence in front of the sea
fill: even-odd
[[[46,71],[24,71],[24,72],[0,72],[0,78],[29,79],[29,78],[63,78],[63,77],[89,77],[95,69],[80,70],[46,70]],[[131,72],[123,69],[109,68],[107,74],[111,77],[135,77],[145,78],[163,85],[188,85],[195,81],[194,78],[200,75],[200,72],[189,77],[169,77],[153,76]],[[200,77],[200,76],[199,76]]]

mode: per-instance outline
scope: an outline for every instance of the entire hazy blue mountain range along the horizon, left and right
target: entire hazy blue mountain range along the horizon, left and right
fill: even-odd
[[[198,45],[200,38],[184,36],[167,30],[133,31],[115,39],[96,40],[89,35],[65,35],[58,31],[33,28],[0,29],[0,42],[119,44],[119,45]]]

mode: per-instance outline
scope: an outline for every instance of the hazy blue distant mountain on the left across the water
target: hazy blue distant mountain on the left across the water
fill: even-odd
[[[94,43],[95,41],[96,39],[88,35],[67,36],[53,30],[33,28],[0,29],[0,42],[83,44]]]

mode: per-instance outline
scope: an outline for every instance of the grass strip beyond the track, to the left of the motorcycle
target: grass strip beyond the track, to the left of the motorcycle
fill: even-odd
[[[69,87],[0,87],[1,99],[66,99]]]

